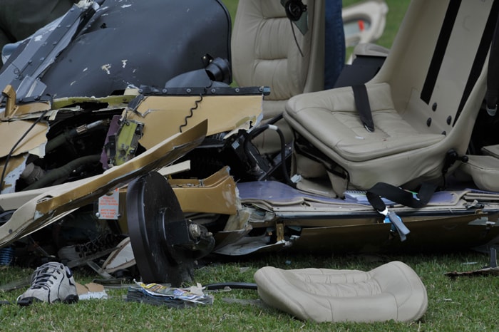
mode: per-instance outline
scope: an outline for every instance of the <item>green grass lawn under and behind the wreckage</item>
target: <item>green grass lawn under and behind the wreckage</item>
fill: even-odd
[[[223,0],[232,14],[237,1]],[[355,1],[344,1],[349,5]],[[389,0],[382,46],[390,47],[408,0]],[[232,290],[214,293],[212,306],[175,309],[123,301],[126,289],[108,289],[109,299],[80,301],[78,304],[34,304],[0,306],[1,331],[495,331],[499,279],[495,276],[449,279],[448,271],[469,271],[488,264],[488,255],[475,251],[421,255],[332,255],[262,254],[227,261],[217,256],[203,259],[196,269],[200,284],[254,282],[262,266],[283,269],[317,267],[368,271],[387,261],[400,260],[421,277],[428,291],[428,310],[420,321],[396,323],[311,323],[299,321],[273,308],[262,306],[256,291]],[[25,278],[31,269],[0,268],[0,284]],[[88,269],[74,269],[76,281],[85,284],[97,276]],[[24,289],[0,294],[15,302]]]

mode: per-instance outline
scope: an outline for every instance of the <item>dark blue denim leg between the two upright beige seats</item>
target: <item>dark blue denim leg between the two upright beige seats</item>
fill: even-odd
[[[334,87],[345,64],[345,33],[341,10],[341,0],[326,0],[324,89]]]

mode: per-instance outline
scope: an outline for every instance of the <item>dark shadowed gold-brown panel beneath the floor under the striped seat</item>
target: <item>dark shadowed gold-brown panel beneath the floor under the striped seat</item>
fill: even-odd
[[[411,222],[404,220],[411,229],[405,242],[391,237],[389,224],[357,224],[341,227],[304,227],[293,250],[358,251],[358,252],[424,252],[475,247],[494,239],[499,227],[470,224],[475,219],[498,215],[473,214],[436,220]]]

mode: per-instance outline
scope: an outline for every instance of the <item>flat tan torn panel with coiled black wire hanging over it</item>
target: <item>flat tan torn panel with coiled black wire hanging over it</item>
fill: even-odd
[[[146,149],[205,119],[207,136],[237,128],[262,113],[262,95],[146,96],[125,118],[144,123],[140,144]]]

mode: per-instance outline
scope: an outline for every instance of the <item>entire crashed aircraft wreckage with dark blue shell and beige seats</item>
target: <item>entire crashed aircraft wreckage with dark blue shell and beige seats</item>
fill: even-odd
[[[231,32],[220,1],[150,2],[81,1],[1,68],[2,255],[175,285],[210,253],[498,241],[496,1],[412,1],[331,90],[324,1],[265,1],[302,53],[282,72],[250,6]]]

